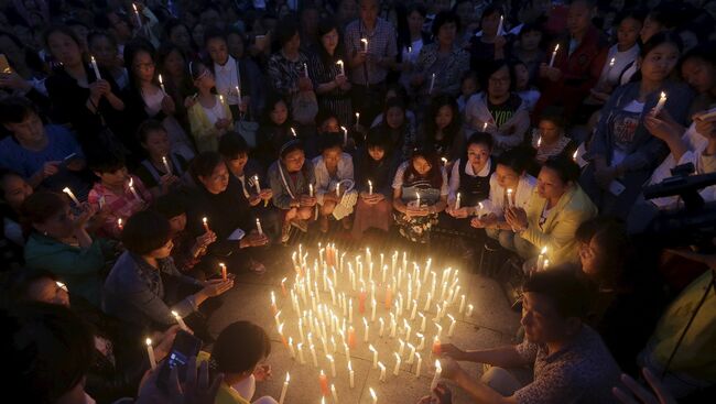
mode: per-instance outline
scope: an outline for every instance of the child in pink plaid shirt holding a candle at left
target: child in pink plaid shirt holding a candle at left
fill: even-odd
[[[98,211],[107,212],[102,231],[118,239],[121,229],[117,227],[117,219],[126,220],[145,209],[153,200],[152,194],[138,176],[128,173],[121,155],[95,153],[89,156],[89,170],[99,182],[93,186],[87,201]]]

